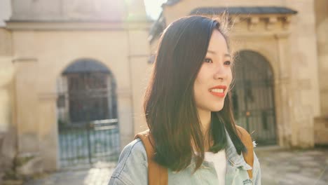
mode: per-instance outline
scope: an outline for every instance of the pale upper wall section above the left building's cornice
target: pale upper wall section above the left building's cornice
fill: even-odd
[[[13,0],[11,20],[130,21],[146,19],[142,0]]]

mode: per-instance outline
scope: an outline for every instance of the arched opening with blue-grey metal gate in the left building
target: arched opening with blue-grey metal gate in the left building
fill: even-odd
[[[116,81],[104,64],[76,60],[57,81],[60,167],[118,160]]]

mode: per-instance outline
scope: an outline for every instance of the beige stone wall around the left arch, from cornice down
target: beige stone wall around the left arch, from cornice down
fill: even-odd
[[[58,132],[57,78],[72,62],[102,62],[116,80],[121,146],[143,129],[140,100],[149,56],[149,22],[8,22],[13,39],[18,156],[31,154],[43,170],[56,170]],[[34,31],[30,31],[34,29]],[[35,31],[37,30],[37,31]],[[30,43],[34,43],[31,47]],[[133,83],[133,84],[132,84]],[[137,122],[136,125],[134,123]],[[137,131],[136,131],[137,130]],[[39,169],[39,168],[38,168]]]

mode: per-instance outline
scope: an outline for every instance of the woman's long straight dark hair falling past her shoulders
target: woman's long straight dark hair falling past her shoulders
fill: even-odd
[[[144,112],[155,142],[154,160],[174,171],[189,166],[193,156],[196,157],[195,170],[204,160],[205,138],[194,100],[193,83],[214,29],[224,33],[217,20],[193,15],[172,22],[160,38],[153,74],[144,97]],[[210,151],[214,153],[227,144],[225,128],[238,153],[245,151],[236,133],[230,94],[224,100],[224,108],[212,112],[208,141],[213,140]]]

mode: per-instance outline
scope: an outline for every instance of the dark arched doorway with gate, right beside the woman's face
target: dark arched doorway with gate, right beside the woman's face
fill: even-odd
[[[266,58],[251,50],[235,55],[233,107],[238,125],[260,145],[276,144],[273,70]]]

